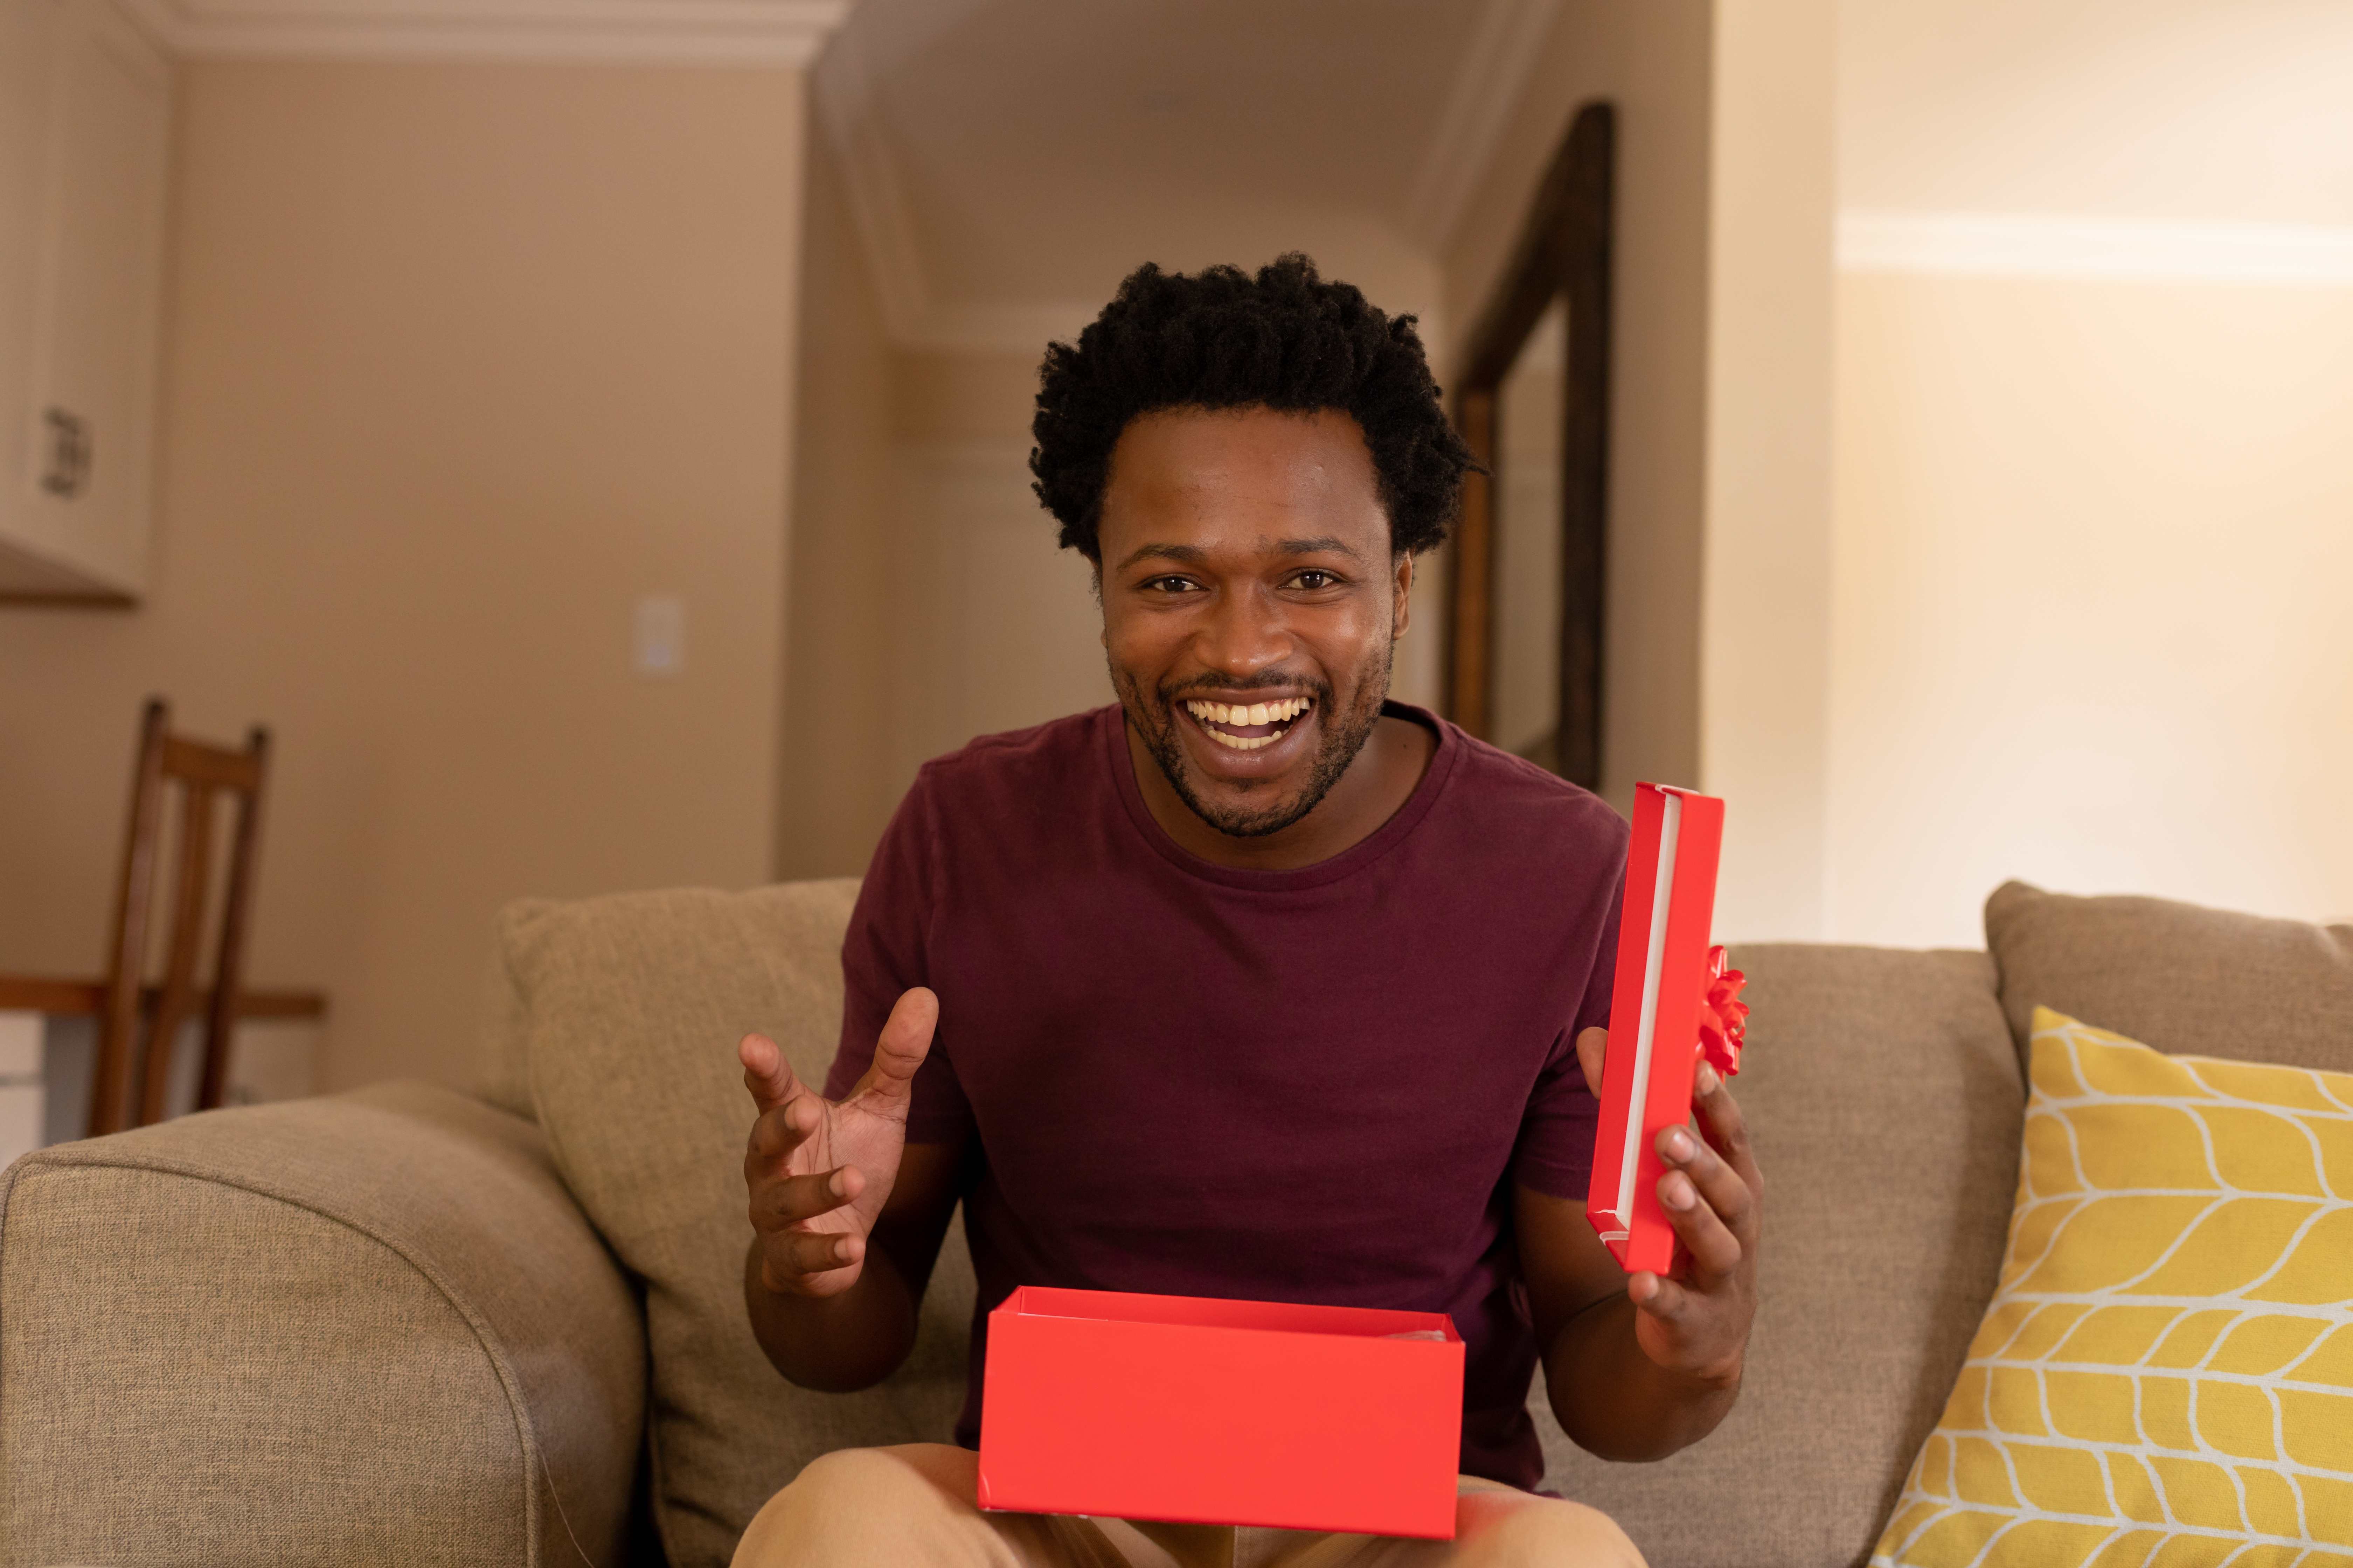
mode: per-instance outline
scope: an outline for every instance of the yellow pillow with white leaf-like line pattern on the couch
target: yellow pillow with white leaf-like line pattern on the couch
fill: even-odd
[[[2353,1568],[2353,1077],[2049,1009],[2031,1077],[2002,1276],[1871,1561]]]

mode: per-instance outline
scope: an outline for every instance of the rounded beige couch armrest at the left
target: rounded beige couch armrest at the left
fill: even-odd
[[[0,1178],[0,1561],[616,1563],[645,1324],[539,1131],[424,1084]]]

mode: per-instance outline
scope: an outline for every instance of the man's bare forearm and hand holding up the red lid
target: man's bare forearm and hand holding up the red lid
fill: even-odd
[[[1600,1030],[1579,1039],[1600,1079]],[[1732,1408],[1755,1316],[1755,1239],[1765,1180],[1732,1091],[1706,1065],[1699,1131],[1659,1135],[1659,1199],[1682,1248],[1668,1276],[1624,1274],[1584,1204],[1515,1187],[1520,1269],[1544,1354],[1544,1385],[1569,1439],[1605,1460],[1664,1460]]]

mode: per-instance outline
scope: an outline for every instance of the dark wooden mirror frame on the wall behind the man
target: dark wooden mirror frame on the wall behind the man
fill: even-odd
[[[1617,108],[1586,103],[1553,155],[1511,266],[1464,355],[1454,423],[1480,468],[1464,484],[1447,583],[1447,715],[1492,738],[1497,400],[1555,299],[1569,353],[1560,442],[1560,724],[1555,766],[1588,790],[1602,776],[1602,567],[1609,458],[1609,223]]]

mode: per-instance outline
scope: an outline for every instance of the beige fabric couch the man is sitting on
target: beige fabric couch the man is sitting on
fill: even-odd
[[[722,1563],[842,1443],[944,1436],[951,1237],[885,1387],[744,1324],[732,1046],[816,1077],[852,884],[522,905],[487,1086],[188,1117],[0,1185],[0,1563]],[[2353,929],[2005,886],[1988,952],[1744,947],[1762,1309],[1727,1425],[1548,1483],[1659,1568],[1868,1552],[1993,1286],[2049,1004],[2167,1051],[2353,1070]]]

